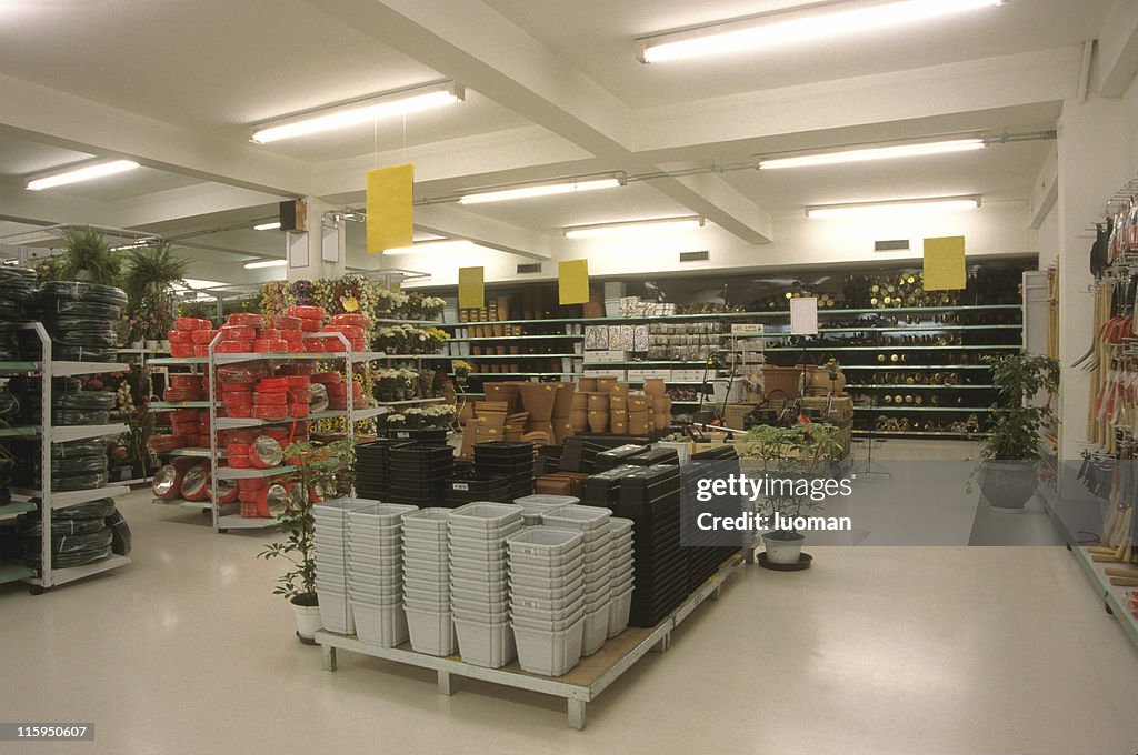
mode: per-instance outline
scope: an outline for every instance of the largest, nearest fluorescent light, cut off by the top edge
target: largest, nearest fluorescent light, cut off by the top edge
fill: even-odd
[[[965,10],[1001,6],[1005,2],[1006,0],[879,0],[863,2],[848,10],[841,10],[841,5],[827,2],[643,38],[637,40],[636,52],[641,63],[739,52],[898,26]]]

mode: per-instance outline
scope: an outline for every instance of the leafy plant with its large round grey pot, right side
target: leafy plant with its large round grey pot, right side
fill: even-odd
[[[1021,509],[1039,483],[1039,429],[1052,416],[1049,404],[1029,403],[1040,391],[1059,385],[1059,363],[1050,357],[1014,354],[984,357],[992,368],[998,396],[989,412],[989,435],[975,471],[980,491],[995,508]],[[971,489],[971,481],[970,481]]]

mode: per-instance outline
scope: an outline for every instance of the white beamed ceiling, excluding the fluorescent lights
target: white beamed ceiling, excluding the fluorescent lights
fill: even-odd
[[[611,191],[443,215],[453,222],[447,233],[498,249],[534,239],[555,247],[563,226],[637,217],[706,214],[753,243],[769,234],[765,215],[799,215],[811,204],[947,194],[1022,202],[1052,140],[872,165],[734,168],[774,152],[1054,130],[1078,78],[1078,45],[1099,34],[1111,2],[1013,0],[762,52],[653,65],[634,57],[641,35],[801,5],[0,1],[0,101],[9,103],[0,108],[0,217],[179,238],[204,266],[229,263],[197,277],[231,280],[245,275],[244,262],[283,255],[283,234],[249,230],[277,200],[315,193],[358,202],[366,169],[397,161],[415,164],[415,194],[432,198],[605,171],[634,176]],[[465,101],[248,142],[257,123],[443,80],[464,84]],[[23,191],[30,175],[115,157],[146,167],[35,197]],[[686,183],[636,180],[724,166],[732,169]],[[379,256],[365,264],[379,265]]]

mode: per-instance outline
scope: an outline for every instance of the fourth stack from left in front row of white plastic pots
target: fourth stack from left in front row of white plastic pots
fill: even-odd
[[[510,627],[505,539],[521,529],[521,506],[476,501],[451,512],[451,611],[459,654],[498,669],[518,655]]]

